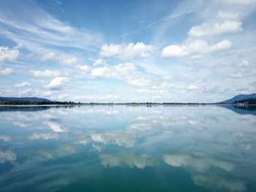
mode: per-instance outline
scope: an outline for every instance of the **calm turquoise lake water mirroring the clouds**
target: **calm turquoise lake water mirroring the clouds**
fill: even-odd
[[[256,191],[255,112],[0,107],[0,191]]]

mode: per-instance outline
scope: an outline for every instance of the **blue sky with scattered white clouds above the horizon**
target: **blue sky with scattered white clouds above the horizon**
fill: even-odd
[[[0,96],[214,102],[256,92],[256,0],[0,1]]]

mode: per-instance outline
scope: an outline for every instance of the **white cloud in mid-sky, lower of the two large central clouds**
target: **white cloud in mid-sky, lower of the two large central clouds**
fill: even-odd
[[[117,78],[127,77],[135,71],[132,63],[118,64],[116,66],[102,66],[94,68],[91,71],[92,77]]]

